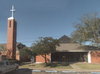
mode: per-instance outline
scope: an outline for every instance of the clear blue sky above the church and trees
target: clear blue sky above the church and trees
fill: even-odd
[[[71,36],[82,16],[100,14],[100,0],[0,0],[0,43],[7,42],[7,19],[16,12],[17,42],[31,46],[39,37]]]

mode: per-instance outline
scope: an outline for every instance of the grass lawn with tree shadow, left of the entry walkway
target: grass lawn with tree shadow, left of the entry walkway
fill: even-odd
[[[22,65],[19,68],[30,68],[30,69],[41,69],[41,70],[66,70],[73,69],[70,65],[61,65],[61,64],[26,64]]]

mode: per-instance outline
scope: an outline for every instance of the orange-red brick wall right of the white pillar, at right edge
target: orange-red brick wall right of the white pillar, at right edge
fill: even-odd
[[[91,52],[92,63],[100,63],[100,51]]]

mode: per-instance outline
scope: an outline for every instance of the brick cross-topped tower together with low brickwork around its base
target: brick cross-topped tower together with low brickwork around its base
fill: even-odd
[[[8,18],[7,22],[7,43],[0,44],[5,50],[0,51],[1,56],[6,56],[7,59],[19,59],[19,54],[16,52],[16,35],[17,35],[17,22],[14,17],[15,8],[12,6],[10,10],[12,12],[11,17]],[[17,56],[16,56],[17,54]]]

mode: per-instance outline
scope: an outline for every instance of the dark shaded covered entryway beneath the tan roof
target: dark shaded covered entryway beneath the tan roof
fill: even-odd
[[[88,52],[55,52],[51,54],[51,62],[85,62]]]

